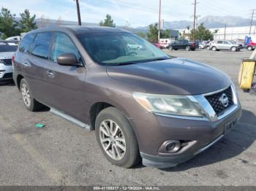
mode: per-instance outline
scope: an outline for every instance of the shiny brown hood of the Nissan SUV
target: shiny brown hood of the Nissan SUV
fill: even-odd
[[[108,66],[107,72],[130,90],[143,93],[197,95],[220,90],[231,83],[222,71],[182,58]]]

